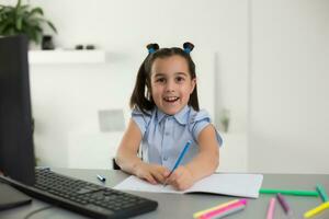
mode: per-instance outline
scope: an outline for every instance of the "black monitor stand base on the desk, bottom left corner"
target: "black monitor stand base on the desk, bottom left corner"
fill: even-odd
[[[0,181],[0,210],[31,204],[32,198]]]

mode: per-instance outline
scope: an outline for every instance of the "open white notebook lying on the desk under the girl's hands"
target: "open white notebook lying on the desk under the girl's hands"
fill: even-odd
[[[114,189],[177,194],[212,193],[218,195],[258,198],[262,181],[263,175],[261,174],[216,173],[196,182],[186,191],[175,191],[170,185],[152,185],[132,175],[117,184]]]

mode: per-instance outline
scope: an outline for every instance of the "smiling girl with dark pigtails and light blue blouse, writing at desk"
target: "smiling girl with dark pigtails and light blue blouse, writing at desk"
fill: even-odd
[[[222,145],[208,114],[198,110],[193,47],[147,46],[131,97],[132,118],[115,158],[123,171],[177,189],[214,173]],[[189,150],[170,174],[188,141]],[[144,161],[137,155],[140,142]]]

